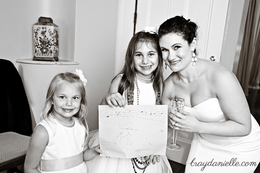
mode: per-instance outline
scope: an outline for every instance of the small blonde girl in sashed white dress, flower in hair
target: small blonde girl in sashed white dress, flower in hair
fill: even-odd
[[[31,136],[25,158],[26,173],[86,173],[83,161],[102,151],[88,147],[87,101],[81,70],[60,73],[51,81],[42,121]]]

